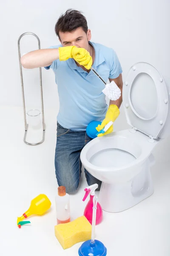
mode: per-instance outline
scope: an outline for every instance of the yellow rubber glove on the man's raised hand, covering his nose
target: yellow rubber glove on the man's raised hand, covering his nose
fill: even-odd
[[[92,57],[86,49],[76,46],[59,47],[59,60],[66,61],[69,58],[74,58],[75,61],[88,70],[93,64]]]

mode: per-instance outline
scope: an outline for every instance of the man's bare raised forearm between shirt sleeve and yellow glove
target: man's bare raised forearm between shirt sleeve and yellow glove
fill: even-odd
[[[59,58],[58,49],[39,49],[21,57],[21,64],[24,68],[48,67],[53,61]]]

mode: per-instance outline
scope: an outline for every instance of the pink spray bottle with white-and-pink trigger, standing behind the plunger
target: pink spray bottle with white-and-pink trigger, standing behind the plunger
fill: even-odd
[[[87,188],[85,188],[85,196],[82,199],[82,201],[85,201],[85,199],[90,194],[90,200],[88,201],[88,204],[86,205],[85,210],[84,210],[84,215],[88,219],[90,224],[92,224],[92,217],[93,217],[93,198],[95,195],[95,189],[97,189],[97,188],[98,188],[98,184],[94,184],[94,185],[91,185],[91,186],[88,186]],[[96,225],[102,221],[102,218],[103,218],[102,207],[99,203],[97,203]]]

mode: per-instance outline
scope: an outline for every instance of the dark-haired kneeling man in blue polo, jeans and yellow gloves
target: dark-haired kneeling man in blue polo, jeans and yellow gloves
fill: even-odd
[[[68,9],[55,25],[60,45],[29,52],[21,58],[25,68],[52,69],[59,94],[55,172],[59,186],[67,193],[75,192],[81,175],[80,152],[91,140],[85,130],[91,121],[101,121],[100,131],[119,116],[122,96],[106,105],[102,93],[105,85],[90,70],[94,69],[107,81],[115,81],[122,91],[122,68],[113,49],[92,43],[86,18],[77,10]],[[105,134],[113,131],[111,126]],[[105,135],[104,134],[104,135]],[[102,136],[103,134],[99,134]],[[85,169],[88,185],[98,183]]]

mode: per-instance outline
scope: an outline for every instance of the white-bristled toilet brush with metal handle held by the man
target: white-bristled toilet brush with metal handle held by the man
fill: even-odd
[[[99,77],[99,79],[105,84],[105,88],[102,90],[102,93],[105,94],[105,96],[108,97],[108,99],[111,100],[117,100],[121,96],[121,90],[117,86],[117,84],[114,81],[111,81],[110,84],[107,84],[105,80],[102,79],[102,77],[94,70],[93,67],[91,67],[91,70],[94,72],[96,76]]]

